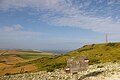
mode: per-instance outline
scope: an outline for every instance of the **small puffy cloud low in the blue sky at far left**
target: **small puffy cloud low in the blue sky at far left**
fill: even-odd
[[[4,26],[2,31],[4,32],[14,32],[14,31],[19,31],[23,29],[23,27],[20,24],[15,24],[13,26]]]

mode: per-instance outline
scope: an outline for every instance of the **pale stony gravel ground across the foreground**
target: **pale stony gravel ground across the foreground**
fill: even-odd
[[[120,80],[120,63],[90,65],[87,71],[78,72],[79,80]],[[39,71],[9,76],[0,76],[0,80],[73,80],[73,75],[64,70],[54,72]]]

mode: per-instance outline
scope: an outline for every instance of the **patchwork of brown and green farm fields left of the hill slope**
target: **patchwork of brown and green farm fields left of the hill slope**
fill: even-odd
[[[16,64],[29,62],[38,58],[48,57],[53,53],[32,50],[0,50],[0,75],[9,75],[35,71],[36,64],[16,67]]]

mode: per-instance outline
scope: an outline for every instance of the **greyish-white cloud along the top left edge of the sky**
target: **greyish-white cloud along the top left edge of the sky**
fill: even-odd
[[[54,8],[54,5],[58,5],[59,2],[60,0],[1,0],[0,8],[3,10],[10,8],[19,9],[25,7],[45,9]]]

